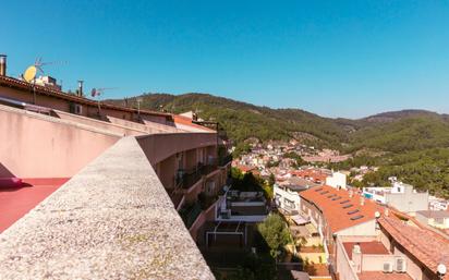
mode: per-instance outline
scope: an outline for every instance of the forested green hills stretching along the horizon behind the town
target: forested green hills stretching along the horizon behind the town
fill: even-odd
[[[206,94],[145,94],[141,98],[144,109],[174,113],[196,111],[205,120],[218,121],[236,145],[251,137],[262,142],[294,137],[317,147],[351,153],[352,159],[332,168],[379,167],[377,172],[365,176],[361,186],[386,185],[388,176],[396,175],[418,188],[449,198],[447,114],[403,110],[349,120],[323,118],[299,109],[258,107]],[[122,105],[124,100],[108,102]],[[129,98],[128,104],[136,107],[136,97]],[[362,153],[366,150],[372,153]]]

